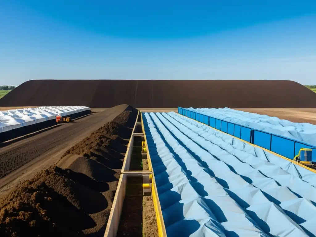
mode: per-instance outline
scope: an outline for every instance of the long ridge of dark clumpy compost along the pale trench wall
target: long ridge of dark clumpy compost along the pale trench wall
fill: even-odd
[[[0,236],[103,236],[137,112],[127,107],[3,197]]]

